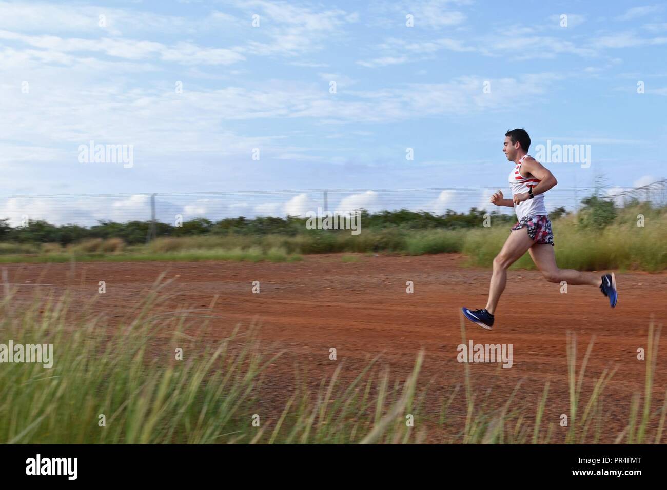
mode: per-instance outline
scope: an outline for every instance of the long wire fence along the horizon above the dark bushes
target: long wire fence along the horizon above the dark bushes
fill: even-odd
[[[550,211],[563,207],[576,211],[580,201],[594,193],[613,199],[617,205],[631,201],[665,205],[665,179],[638,188],[605,189],[555,187],[546,195]],[[235,191],[200,193],[145,193],[108,195],[3,195],[0,219],[12,227],[43,220],[52,225],[95,225],[101,221],[156,221],[171,223],[205,217],[211,221],[258,216],[305,216],[312,211],[346,213],[364,208],[370,213],[383,210],[428,211],[436,215],[467,213],[471,208],[511,214],[509,207],[489,203],[497,188],[433,189],[302,189],[285,191]],[[506,194],[506,197],[510,197]]]

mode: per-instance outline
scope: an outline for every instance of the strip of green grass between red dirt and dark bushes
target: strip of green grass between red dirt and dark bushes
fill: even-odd
[[[638,226],[642,215],[644,222]],[[564,269],[598,271],[667,268],[665,208],[635,205],[606,219],[591,213],[554,219],[556,259]],[[601,223],[601,224],[600,224]],[[471,265],[491,267],[510,233],[508,223],[454,229],[410,229],[403,226],[350,231],[307,230],[296,235],[233,234],[161,237],[147,245],[125,245],[121,239],[88,239],[62,247],[58,243],[0,243],[0,263],[67,261],[297,261],[311,253],[462,252]],[[350,260],[350,259],[345,259]],[[514,268],[534,268],[528,254]]]

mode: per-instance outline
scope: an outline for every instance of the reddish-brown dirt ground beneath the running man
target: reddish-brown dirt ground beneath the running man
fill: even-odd
[[[348,255],[348,257],[350,257]],[[212,335],[227,336],[241,322],[257,320],[262,351],[285,350],[267,372],[257,403],[279,413],[293,389],[294,366],[309,373],[312,385],[344,363],[344,379],[353,379],[370,359],[381,355],[380,367],[389,367],[399,379],[412,371],[420,349],[426,350],[420,386],[429,385],[425,409],[438,415],[442,398],[464,381],[458,363],[461,343],[460,306],[483,307],[490,271],[463,267],[457,254],[398,257],[356,255],[345,262],[341,255],[306,256],[297,263],[78,263],[6,265],[9,282],[18,287],[16,301],[27,300],[39,288],[56,292],[70,289],[75,299],[95,300],[95,309],[120,317],[141,297],[159,273],[175,281],[165,293],[179,292],[173,309],[205,309],[219,295],[213,309]],[[544,383],[551,387],[544,421],[554,428],[552,442],[562,440],[566,429],[559,416],[569,414],[566,331],[576,333],[578,365],[592,336],[594,347],[588,367],[582,405],[595,379],[606,367],[616,367],[605,390],[602,442],[613,442],[628,423],[632,393],[644,391],[646,361],[638,361],[638,347],[647,347],[651,314],[656,325],[667,317],[667,274],[620,273],[618,306],[593,287],[547,283],[536,271],[510,271],[508,285],[496,313],[493,331],[466,323],[468,339],[475,343],[514,346],[514,365],[470,364],[478,402],[488,407],[504,405],[522,381],[516,403],[528,407],[528,422]],[[97,293],[98,281],[107,291]],[[259,281],[260,293],[251,292]],[[414,294],[406,293],[414,282]],[[329,347],[338,359],[329,360]],[[664,348],[661,349],[664,351]],[[658,351],[652,411],[662,407],[667,387],[667,364]],[[490,391],[488,391],[490,389]],[[453,405],[465,407],[464,390]],[[640,407],[641,412],[641,407]],[[657,418],[657,417],[654,417]],[[656,426],[654,422],[653,427]],[[456,431],[454,431],[456,432]],[[651,432],[652,433],[652,432]],[[438,442],[429,434],[428,441]],[[663,437],[664,439],[664,437]]]

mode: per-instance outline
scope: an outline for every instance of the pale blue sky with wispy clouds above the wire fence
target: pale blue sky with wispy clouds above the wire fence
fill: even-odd
[[[657,2],[0,1],[0,194],[506,189],[514,127],[613,192],[664,177],[666,54]]]

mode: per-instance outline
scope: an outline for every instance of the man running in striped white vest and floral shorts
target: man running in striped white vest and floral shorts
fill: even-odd
[[[502,151],[509,161],[514,162],[509,178],[512,199],[504,199],[502,191],[499,190],[491,197],[491,203],[496,206],[514,207],[519,221],[512,227],[505,245],[494,259],[494,273],[491,277],[486,308],[475,310],[462,308],[467,319],[487,330],[494,325],[494,313],[500,295],[505,289],[507,269],[526,251],[530,253],[544,279],[550,283],[566,281],[568,285],[588,284],[600,287],[602,294],[609,298],[612,308],[616,306],[618,299],[614,273],[596,277],[572,269],[558,269],[551,221],[544,207],[544,193],[558,182],[549,169],[528,155],[529,147],[530,136],[524,129],[512,129],[505,133]]]

